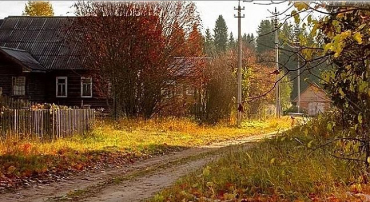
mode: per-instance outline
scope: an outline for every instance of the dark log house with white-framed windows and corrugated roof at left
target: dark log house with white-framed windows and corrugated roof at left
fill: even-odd
[[[65,27],[76,17],[9,16],[0,21],[0,92],[32,102],[107,106]]]

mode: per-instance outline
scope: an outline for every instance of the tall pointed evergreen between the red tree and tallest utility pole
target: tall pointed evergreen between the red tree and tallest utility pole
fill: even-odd
[[[226,51],[228,45],[228,27],[226,26],[226,22],[222,15],[218,16],[213,32],[214,46],[216,48],[216,51]]]

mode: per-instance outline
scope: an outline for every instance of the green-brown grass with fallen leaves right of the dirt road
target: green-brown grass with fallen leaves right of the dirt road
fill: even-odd
[[[314,124],[325,133],[324,122],[314,120],[251,149],[231,151],[149,201],[366,201],[345,194],[362,190],[359,165],[309,148],[314,131],[301,131]]]

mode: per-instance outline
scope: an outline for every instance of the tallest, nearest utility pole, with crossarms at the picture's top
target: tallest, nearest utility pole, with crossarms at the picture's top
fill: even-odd
[[[238,71],[237,71],[237,80],[238,80],[238,97],[237,97],[237,110],[238,110],[238,126],[241,124],[242,120],[242,111],[243,111],[243,106],[242,106],[242,34],[241,34],[241,18],[244,18],[242,16],[242,10],[244,10],[244,7],[240,7],[240,1],[238,8],[234,7],[234,10],[238,11],[238,16],[234,17],[238,18],[238,42],[239,42],[239,47],[238,47]]]

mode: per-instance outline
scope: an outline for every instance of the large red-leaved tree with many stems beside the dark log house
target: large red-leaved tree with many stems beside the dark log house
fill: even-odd
[[[116,115],[150,118],[191,74],[198,55],[189,37],[198,29],[188,2],[77,2],[70,28],[98,88],[112,97]],[[195,43],[195,42],[194,42]],[[191,48],[192,47],[192,48]],[[174,95],[175,94],[175,95]]]

